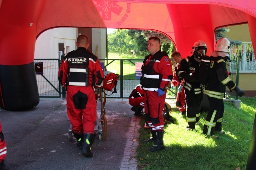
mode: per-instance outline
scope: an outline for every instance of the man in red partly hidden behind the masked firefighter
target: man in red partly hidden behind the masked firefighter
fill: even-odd
[[[174,87],[178,87],[178,93],[177,93],[177,99],[176,99],[176,107],[180,110],[180,115],[186,115],[186,103],[185,103],[185,91],[182,85],[182,79],[180,79],[177,76],[177,70],[180,67],[180,62],[182,60],[181,55],[178,51],[174,51],[172,53],[172,59],[175,61],[177,64],[174,68],[174,74],[172,78],[172,89],[174,90]]]

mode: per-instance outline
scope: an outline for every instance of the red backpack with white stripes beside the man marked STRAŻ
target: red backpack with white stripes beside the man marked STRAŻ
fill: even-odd
[[[119,78],[118,74],[115,74],[113,72],[108,73],[103,80],[103,89],[107,91],[112,91],[114,88],[114,91],[111,94],[117,93],[116,85],[117,85],[118,78]]]

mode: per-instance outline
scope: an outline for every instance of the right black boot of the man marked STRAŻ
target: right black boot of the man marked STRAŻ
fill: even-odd
[[[94,141],[94,134],[84,133],[84,145],[83,145],[83,149],[82,149],[82,155],[84,155],[87,158],[92,158],[93,157],[93,154],[92,154],[92,151],[91,151],[93,141]]]

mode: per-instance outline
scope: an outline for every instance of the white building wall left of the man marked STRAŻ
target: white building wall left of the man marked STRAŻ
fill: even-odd
[[[49,29],[39,35],[36,40],[34,59],[60,59],[59,43],[64,43],[66,53],[76,49],[76,28],[54,28]],[[58,61],[43,62],[44,77],[58,89]],[[41,75],[36,75],[38,92],[40,96],[48,93],[52,94],[56,90]]]

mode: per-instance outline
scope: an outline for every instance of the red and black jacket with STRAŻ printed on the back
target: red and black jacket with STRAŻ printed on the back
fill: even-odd
[[[100,60],[84,47],[68,53],[60,65],[58,80],[67,86],[95,86],[104,79]]]

